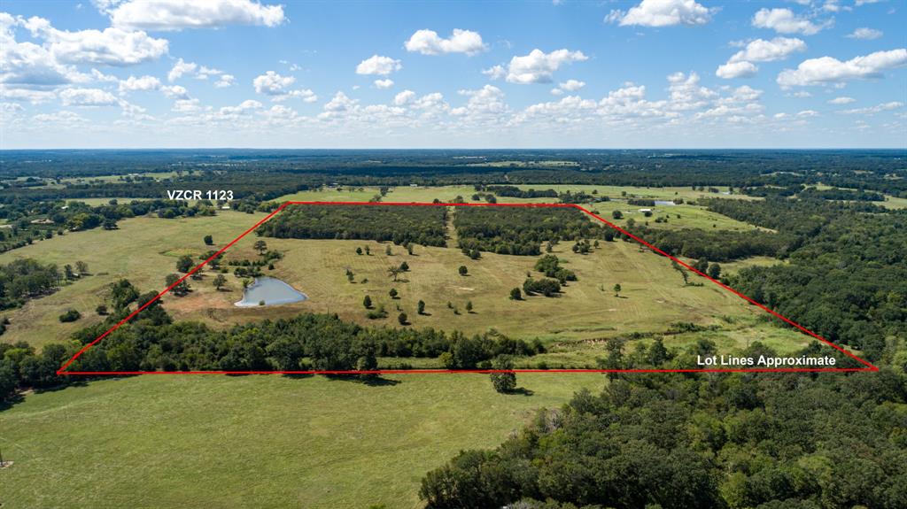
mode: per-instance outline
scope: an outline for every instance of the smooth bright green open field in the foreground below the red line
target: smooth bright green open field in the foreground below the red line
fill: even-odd
[[[0,412],[4,507],[420,507],[419,481],[494,447],[596,374],[400,375],[378,387],[312,377],[144,376],[29,394]]]

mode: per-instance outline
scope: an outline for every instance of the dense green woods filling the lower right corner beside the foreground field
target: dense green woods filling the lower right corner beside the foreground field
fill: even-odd
[[[613,375],[500,447],[454,456],[419,495],[433,509],[900,508],[905,403],[902,370]]]

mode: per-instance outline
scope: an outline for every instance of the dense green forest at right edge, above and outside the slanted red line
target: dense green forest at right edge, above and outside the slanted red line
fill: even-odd
[[[907,333],[907,211],[789,198],[709,209],[795,237],[788,264],[726,276],[740,292],[870,360]]]

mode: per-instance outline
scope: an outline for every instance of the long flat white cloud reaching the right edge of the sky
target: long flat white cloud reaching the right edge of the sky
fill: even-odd
[[[801,62],[796,69],[778,74],[782,87],[827,85],[852,80],[881,77],[883,71],[907,65],[907,49],[875,52],[854,57],[846,62],[824,56]]]

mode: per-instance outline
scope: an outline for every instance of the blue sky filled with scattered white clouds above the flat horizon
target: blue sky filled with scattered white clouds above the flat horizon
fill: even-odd
[[[0,3],[0,149],[907,148],[904,0]]]

